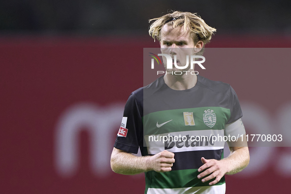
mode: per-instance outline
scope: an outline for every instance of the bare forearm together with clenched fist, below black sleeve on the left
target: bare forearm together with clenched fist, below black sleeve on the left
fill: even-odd
[[[118,174],[133,175],[150,170],[171,171],[174,162],[174,154],[166,150],[153,156],[134,156],[113,148],[110,165],[111,169]]]

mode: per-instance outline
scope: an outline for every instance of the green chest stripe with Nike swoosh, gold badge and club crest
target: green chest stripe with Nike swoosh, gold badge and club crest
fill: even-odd
[[[188,113],[190,116],[186,116]],[[221,130],[225,129],[229,118],[230,110],[227,108],[198,107],[153,112],[144,115],[142,119],[144,135],[151,135],[188,130]],[[189,125],[188,121],[193,119],[194,122]]]

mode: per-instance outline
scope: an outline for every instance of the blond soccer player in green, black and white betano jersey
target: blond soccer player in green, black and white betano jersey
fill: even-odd
[[[149,33],[160,41],[162,53],[176,56],[173,66],[185,66],[186,55],[201,54],[216,31],[189,12],[175,11],[152,20]],[[166,67],[164,57],[163,62]],[[129,96],[111,168],[126,175],[145,172],[146,194],[224,194],[224,175],[249,163],[238,98],[230,85],[186,73],[189,68],[175,75],[181,70],[177,66],[166,68],[164,76]],[[161,135],[185,138],[169,138],[161,146],[161,141],[153,140]],[[231,153],[224,158],[224,142],[214,142],[216,135],[241,140],[228,139]],[[198,136],[204,139],[190,138]],[[132,155],[138,148],[140,157]]]

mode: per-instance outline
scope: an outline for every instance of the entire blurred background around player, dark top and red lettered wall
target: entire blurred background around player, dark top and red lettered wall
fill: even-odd
[[[199,74],[231,84],[247,133],[291,144],[290,0],[0,0],[1,194],[144,192],[144,175],[115,174],[109,160],[143,86],[143,48],[159,47],[148,20],[170,10],[217,29],[206,47],[218,54]],[[281,146],[250,148],[226,194],[288,193]]]

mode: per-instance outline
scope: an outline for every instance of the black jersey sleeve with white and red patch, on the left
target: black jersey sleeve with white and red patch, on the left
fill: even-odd
[[[115,148],[137,154],[143,134],[142,110],[140,109],[141,106],[134,93],[131,93],[125,105],[122,123],[115,139]]]

